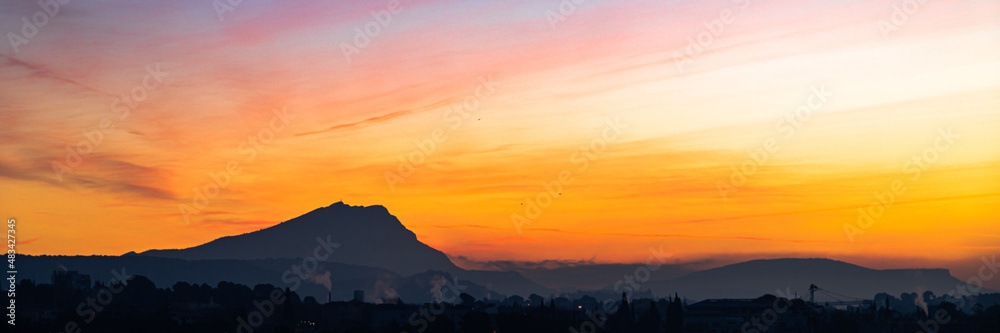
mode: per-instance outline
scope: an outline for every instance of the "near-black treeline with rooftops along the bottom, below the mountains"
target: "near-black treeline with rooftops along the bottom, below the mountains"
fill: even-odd
[[[55,280],[55,279],[54,279]],[[365,332],[365,333],[679,333],[694,313],[680,297],[597,302],[592,297],[566,302],[532,295],[476,300],[462,294],[454,304],[321,303],[273,285],[216,286],[178,282],[157,288],[143,276],[111,283],[71,281],[19,283],[21,332]],[[928,295],[930,296],[930,295]],[[764,296],[761,299],[774,299]],[[929,297],[931,298],[931,297]],[[796,330],[770,324],[745,332],[1000,332],[1000,306],[975,306],[968,314],[949,302],[927,312],[904,313],[890,306],[847,311],[790,301],[806,326]],[[885,304],[889,304],[886,301]],[[759,316],[760,312],[749,314]],[[732,321],[739,314],[720,317]],[[942,317],[943,316],[943,317]],[[946,320],[945,320],[946,318]],[[747,323],[750,323],[749,317]],[[689,323],[690,324],[690,323]],[[745,324],[745,323],[737,323]],[[728,325],[732,325],[731,323]],[[761,324],[757,324],[761,325]]]

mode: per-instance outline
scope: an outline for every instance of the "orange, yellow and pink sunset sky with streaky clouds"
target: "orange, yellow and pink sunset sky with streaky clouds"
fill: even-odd
[[[338,201],[465,267],[1000,252],[996,1],[233,3],[0,1],[22,253]]]

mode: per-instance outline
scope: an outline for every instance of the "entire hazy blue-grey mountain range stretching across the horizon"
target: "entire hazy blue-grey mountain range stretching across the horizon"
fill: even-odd
[[[613,298],[616,294],[620,297],[620,290],[614,289],[616,282],[641,267],[600,264],[507,272],[465,270],[417,240],[385,207],[343,202],[266,229],[187,249],[130,252],[118,257],[25,257],[20,261],[22,277],[40,281],[48,281],[57,269],[76,270],[107,281],[112,269],[124,267],[129,274],[147,276],[161,287],[178,281],[298,286],[300,295],[319,301],[328,297],[346,300],[354,290],[363,290],[369,302],[393,298],[426,302],[441,297],[445,283],[481,299],[533,293]],[[305,279],[292,273],[294,267],[301,268],[313,259],[315,269]],[[755,298],[779,289],[808,297],[809,285],[816,284],[839,295],[824,292],[817,294],[817,301],[835,301],[839,297],[871,299],[881,292],[899,295],[931,290],[941,295],[961,283],[945,269],[877,270],[830,259],[775,259],[702,271],[665,265],[638,290],[661,297],[677,293],[689,300]]]

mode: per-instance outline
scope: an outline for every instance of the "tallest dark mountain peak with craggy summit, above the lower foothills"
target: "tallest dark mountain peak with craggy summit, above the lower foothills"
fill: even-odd
[[[187,249],[149,250],[140,255],[186,260],[307,258],[314,256],[320,245],[317,237],[339,244],[327,262],[384,268],[404,276],[427,270],[460,270],[443,252],[417,240],[416,234],[385,207],[343,202],[266,229]]]

